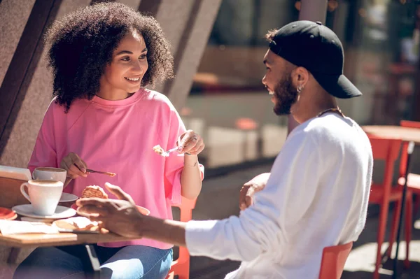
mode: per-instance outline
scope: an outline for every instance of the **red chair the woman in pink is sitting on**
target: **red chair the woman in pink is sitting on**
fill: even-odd
[[[181,205],[179,207],[181,211],[181,222],[188,222],[193,218],[193,209],[195,208],[195,201],[197,199],[191,200],[182,198]],[[174,276],[178,276],[179,279],[188,279],[190,278],[190,253],[187,248],[179,248],[179,257],[178,259],[172,262],[171,269],[169,270],[167,279],[173,279]]]

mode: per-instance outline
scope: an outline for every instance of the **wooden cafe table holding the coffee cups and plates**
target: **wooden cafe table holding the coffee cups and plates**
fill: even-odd
[[[87,257],[92,264],[93,278],[100,278],[100,264],[94,251],[93,243],[129,241],[135,238],[118,236],[111,232],[99,233],[58,233],[58,234],[12,234],[3,236],[0,233],[0,245],[12,248],[36,248],[64,245],[85,245]]]

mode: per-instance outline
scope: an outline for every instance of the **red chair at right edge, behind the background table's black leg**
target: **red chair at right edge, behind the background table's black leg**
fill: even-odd
[[[400,126],[420,129],[420,122],[402,120],[400,122]],[[399,169],[399,176],[398,176],[399,177],[398,189],[400,189],[400,191],[402,191],[402,187],[405,184],[405,173],[407,172],[407,157],[408,157],[407,149],[408,149],[408,142],[405,141],[402,143],[402,153],[401,153],[400,169]],[[407,196],[405,200],[405,241],[407,242],[407,249],[405,251],[406,255],[405,255],[405,261],[404,261],[404,266],[406,268],[409,267],[409,257],[408,257],[409,241],[411,240],[411,234],[412,234],[412,215],[413,215],[412,194],[420,195],[420,175],[416,173],[409,173],[408,181],[407,181]],[[420,199],[419,199],[419,196],[417,196],[414,213],[417,212],[417,210],[419,209],[419,202],[420,202]],[[398,222],[399,222],[400,213],[401,213],[401,203],[397,201],[397,204],[395,205],[394,215],[393,215],[391,236],[389,238],[390,247],[392,247],[391,243],[393,244],[395,242],[395,236],[398,230]],[[388,249],[387,255],[388,257],[391,256],[391,249]]]

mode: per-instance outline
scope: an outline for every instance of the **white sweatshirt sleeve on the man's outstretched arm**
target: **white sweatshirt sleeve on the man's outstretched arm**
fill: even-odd
[[[190,254],[248,262],[265,252],[282,250],[290,227],[304,222],[314,199],[320,159],[316,143],[304,131],[290,134],[265,189],[255,194],[253,206],[239,217],[187,223]]]

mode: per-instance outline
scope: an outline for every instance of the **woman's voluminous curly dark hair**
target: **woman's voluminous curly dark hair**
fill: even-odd
[[[141,86],[174,77],[174,58],[160,24],[122,3],[97,3],[55,21],[45,35],[53,96],[67,112],[74,99],[92,99],[113,51],[137,30],[148,48],[148,70]]]

